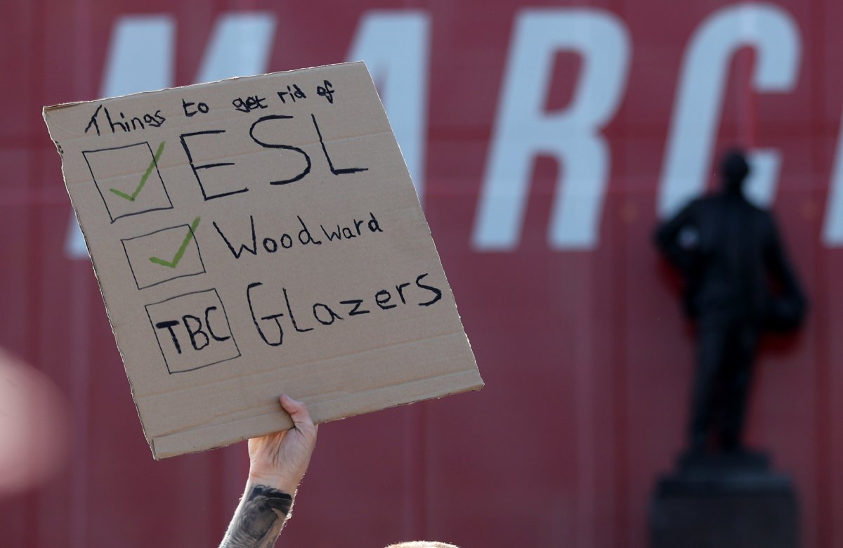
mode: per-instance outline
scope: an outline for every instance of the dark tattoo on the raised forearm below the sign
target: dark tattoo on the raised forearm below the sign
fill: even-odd
[[[220,548],[271,548],[293,506],[293,497],[268,486],[252,486],[240,502]]]

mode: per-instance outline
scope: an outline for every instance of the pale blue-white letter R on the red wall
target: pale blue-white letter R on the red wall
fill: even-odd
[[[566,50],[583,57],[582,74],[571,104],[545,112],[554,57]],[[475,249],[518,245],[537,154],[550,154],[563,164],[550,212],[550,247],[597,245],[610,164],[599,131],[620,104],[629,57],[626,27],[611,13],[551,8],[518,14],[475,218]]]

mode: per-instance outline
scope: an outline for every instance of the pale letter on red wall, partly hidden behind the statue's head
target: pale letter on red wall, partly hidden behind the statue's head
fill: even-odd
[[[706,19],[691,37],[682,63],[658,193],[662,216],[705,190],[729,63],[748,46],[757,53],[753,83],[759,93],[784,93],[796,85],[801,45],[797,25],[787,12],[771,4],[740,4]],[[755,150],[749,153],[749,163],[753,175],[747,195],[769,204],[781,156],[775,150]]]

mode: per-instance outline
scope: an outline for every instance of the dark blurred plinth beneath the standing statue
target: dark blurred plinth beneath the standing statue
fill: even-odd
[[[767,454],[683,454],[650,504],[652,548],[797,548],[796,489]]]

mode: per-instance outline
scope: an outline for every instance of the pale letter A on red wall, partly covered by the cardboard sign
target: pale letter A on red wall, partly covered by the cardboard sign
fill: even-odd
[[[420,11],[373,11],[357,28],[349,61],[365,61],[404,153],[419,199],[424,196],[427,56],[430,18]]]

